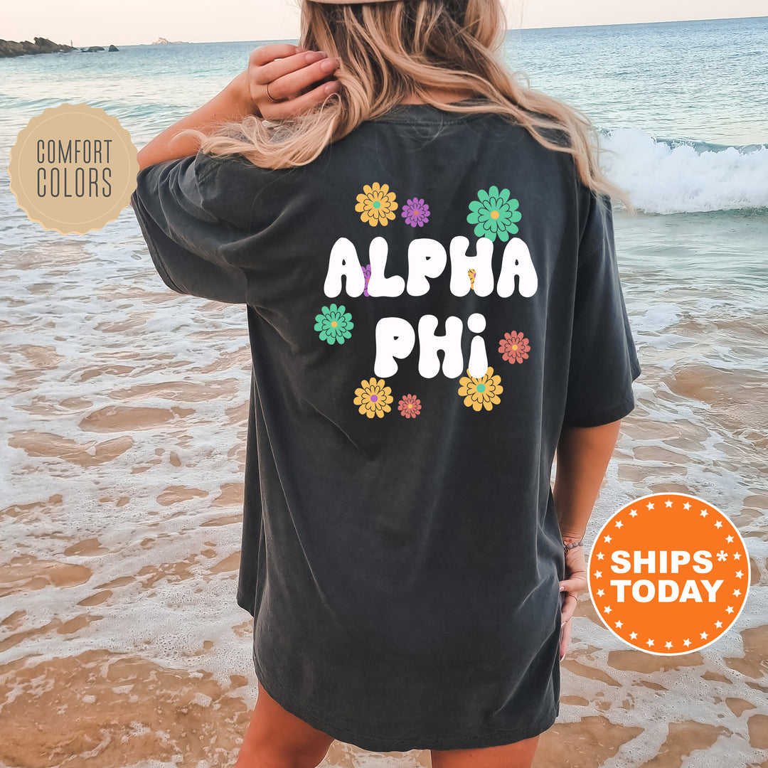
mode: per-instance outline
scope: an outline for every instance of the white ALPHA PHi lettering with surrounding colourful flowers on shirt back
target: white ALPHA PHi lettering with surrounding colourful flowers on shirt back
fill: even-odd
[[[431,210],[423,197],[408,197],[402,205],[400,219],[405,226],[422,229],[429,224]],[[370,227],[387,227],[398,217],[396,192],[389,184],[363,184],[356,195],[356,212],[362,223]],[[506,187],[499,190],[495,185],[478,190],[475,200],[468,203],[467,223],[474,224],[475,255],[468,255],[470,241],[467,237],[453,237],[446,251],[445,246],[430,237],[411,240],[408,250],[408,275],[385,276],[388,243],[384,237],[374,237],[369,246],[369,263],[363,266],[356,247],[347,237],[338,237],[329,254],[323,293],[329,298],[339,296],[342,289],[347,296],[424,296],[429,292],[429,278],[440,276],[449,267],[450,290],[454,296],[466,296],[474,291],[478,296],[495,293],[507,298],[517,290],[521,296],[533,296],[538,289],[538,276],[531,260],[531,253],[524,240],[510,237],[519,232],[518,221],[522,214],[519,200],[511,197]],[[492,270],[495,241],[506,243],[501,260],[498,280]],[[450,263],[450,266],[449,266]],[[517,281],[517,284],[515,284]],[[495,283],[495,284],[494,284]],[[323,306],[315,316],[315,330],[319,339],[328,344],[343,344],[352,337],[354,327],[352,313],[343,304]],[[470,343],[468,367],[464,367],[462,318],[449,316],[444,319],[444,334],[436,334],[439,319],[425,314],[414,329],[402,317],[381,317],[376,323],[376,358],[373,376],[360,380],[355,389],[353,402],[362,415],[369,419],[383,418],[392,412],[392,387],[386,379],[398,370],[399,359],[408,357],[419,340],[419,375],[432,379],[440,370],[449,379],[458,378],[456,392],[465,406],[475,412],[490,411],[498,406],[504,392],[502,376],[488,364],[488,353],[482,333],[486,331],[485,316],[474,312],[466,319],[466,327],[473,334]],[[502,330],[502,329],[500,329]],[[502,330],[498,339],[498,354],[509,364],[521,364],[529,357],[531,344],[522,331]],[[442,365],[438,350],[443,350]],[[466,374],[466,375],[464,375]],[[414,419],[422,411],[422,400],[413,392],[399,397],[398,412],[406,419]]]

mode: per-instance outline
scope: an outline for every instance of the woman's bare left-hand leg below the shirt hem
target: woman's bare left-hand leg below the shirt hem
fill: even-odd
[[[286,712],[259,684],[259,697],[233,768],[315,768],[333,738]]]

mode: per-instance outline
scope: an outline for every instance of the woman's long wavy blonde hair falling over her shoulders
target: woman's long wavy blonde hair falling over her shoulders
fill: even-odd
[[[628,194],[601,171],[599,134],[587,115],[531,88],[528,75],[505,64],[506,30],[500,0],[301,0],[300,44],[339,59],[334,75],[340,88],[299,116],[270,122],[250,114],[220,121],[208,134],[194,128],[180,133],[197,137],[206,154],[295,167],[362,121],[415,96],[447,112],[494,112],[525,127],[543,146],[572,154],[583,184],[617,197],[634,213]],[[435,89],[468,91],[481,101],[452,104]]]

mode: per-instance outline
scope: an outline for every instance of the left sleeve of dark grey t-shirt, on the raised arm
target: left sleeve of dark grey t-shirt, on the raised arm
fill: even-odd
[[[157,273],[176,293],[228,304],[247,303],[246,276],[223,246],[242,237],[214,214],[215,161],[198,152],[142,168],[131,206]],[[214,176],[215,178],[215,176]]]

